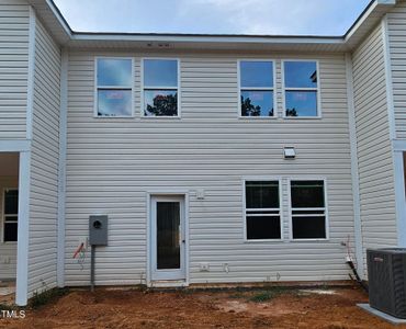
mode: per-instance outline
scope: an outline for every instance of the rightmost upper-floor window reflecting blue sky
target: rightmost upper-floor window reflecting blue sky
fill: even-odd
[[[317,63],[284,61],[283,77],[285,116],[319,116]]]

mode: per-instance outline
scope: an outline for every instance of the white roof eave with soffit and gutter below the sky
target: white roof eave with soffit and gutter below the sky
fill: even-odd
[[[353,49],[396,0],[373,0],[343,36],[272,36],[272,35],[213,35],[213,34],[143,34],[89,33],[70,29],[52,0],[27,0],[53,32],[56,41],[66,47],[137,47],[181,49],[275,49],[298,47],[303,50],[346,52]]]

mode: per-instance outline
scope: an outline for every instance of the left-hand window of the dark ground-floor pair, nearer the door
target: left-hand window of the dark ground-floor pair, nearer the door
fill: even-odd
[[[245,182],[247,240],[281,239],[279,181]]]

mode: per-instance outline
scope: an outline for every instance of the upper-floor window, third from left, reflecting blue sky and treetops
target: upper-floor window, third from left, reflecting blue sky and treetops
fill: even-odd
[[[274,116],[273,61],[239,63],[240,115]]]

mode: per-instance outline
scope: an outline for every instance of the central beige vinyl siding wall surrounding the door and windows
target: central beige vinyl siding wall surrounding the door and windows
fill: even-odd
[[[168,189],[190,192],[191,283],[348,280],[347,250],[340,245],[353,234],[343,55],[309,57],[319,60],[323,120],[241,121],[236,115],[237,63],[247,54],[176,54],[182,120],[94,121],[93,58],[112,55],[134,57],[136,113],[142,109],[140,59],[157,56],[70,50],[67,285],[89,284],[89,251],[83,269],[72,254],[81,237],[88,236],[92,214],[109,215],[109,246],[98,248],[95,283],[145,283],[147,191]],[[267,56],[275,58],[277,90],[281,90],[281,59],[292,54]],[[280,92],[277,98],[282,117]],[[286,145],[296,148],[295,160],[283,159]],[[328,180],[330,239],[245,242],[243,178],[303,173]],[[196,198],[200,189],[204,200]],[[283,204],[289,204],[287,180],[282,180],[281,189]],[[281,212],[283,238],[289,239],[289,209]],[[208,272],[200,272],[201,262],[210,264]]]

